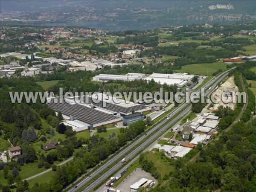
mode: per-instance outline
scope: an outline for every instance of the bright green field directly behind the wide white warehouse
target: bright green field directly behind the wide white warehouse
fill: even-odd
[[[191,73],[195,75],[211,76],[212,73],[221,69],[226,70],[224,63],[202,63],[182,66],[181,70],[175,70],[177,73]]]

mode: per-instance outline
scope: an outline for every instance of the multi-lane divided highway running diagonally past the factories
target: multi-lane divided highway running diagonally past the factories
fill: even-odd
[[[232,69],[230,69],[232,70]],[[220,75],[218,75],[216,78],[211,79],[210,81],[208,81],[202,88],[207,89],[208,87],[215,87],[218,83],[220,83],[222,81],[222,79],[224,79],[227,75],[228,72],[230,70],[227,70],[223,73],[221,73]],[[211,90],[207,90],[205,91],[205,95],[207,95]],[[198,93],[200,93],[200,90],[197,91]],[[169,121],[166,125],[164,125],[168,120],[164,119],[162,122],[160,122],[158,125],[156,125],[154,128],[152,128],[150,131],[147,132],[148,135],[150,135],[151,133],[153,133],[154,131],[157,131],[154,135],[152,135],[151,137],[149,137],[147,140],[144,141],[144,143],[140,144],[139,146],[137,146],[137,148],[135,148],[133,151],[131,151],[131,149],[133,149],[136,145],[138,145],[139,143],[141,143],[145,137],[140,137],[139,139],[137,139],[134,143],[131,143],[131,145],[129,145],[128,147],[124,148],[122,151],[120,151],[118,154],[116,154],[115,157],[111,158],[110,160],[108,160],[105,164],[103,164],[101,167],[99,167],[99,169],[97,169],[95,172],[93,172],[90,177],[86,177],[83,180],[81,180],[76,186],[76,188],[72,188],[69,190],[69,192],[76,192],[79,191],[79,189],[81,189],[82,186],[84,186],[86,183],[88,183],[90,180],[92,180],[94,177],[97,177],[99,173],[101,173],[102,171],[104,171],[105,169],[108,168],[108,166],[110,166],[111,164],[113,164],[116,159],[119,158],[123,158],[123,156],[128,153],[130,151],[130,153],[125,157],[126,160],[131,160],[133,158],[135,158],[136,154],[140,151],[142,151],[144,148],[146,148],[147,146],[149,146],[151,143],[153,143],[154,140],[156,140],[160,134],[162,134],[162,132],[166,131],[166,129],[168,129],[171,125],[173,125],[175,122],[177,122],[178,119],[180,119],[181,117],[185,116],[187,113],[189,113],[189,111],[191,110],[191,105],[190,102],[189,103],[183,103],[182,105],[180,105],[178,108],[175,109],[175,111],[172,112],[172,115],[176,115],[178,114],[174,119],[172,119],[171,121]],[[189,107],[188,107],[189,106]],[[163,126],[164,125],[164,126]],[[161,128],[161,129],[160,129]],[[107,171],[105,172],[103,175],[101,175],[100,177],[97,177],[97,179],[91,183],[89,186],[87,186],[87,188],[85,188],[83,191],[84,192],[89,192],[92,191],[97,185],[99,185],[102,181],[108,179],[109,175],[111,175],[111,173],[116,172],[118,169],[120,169],[123,166],[123,164],[121,162],[117,163],[115,166],[113,166],[111,168],[111,172]],[[109,168],[108,168],[109,169]]]

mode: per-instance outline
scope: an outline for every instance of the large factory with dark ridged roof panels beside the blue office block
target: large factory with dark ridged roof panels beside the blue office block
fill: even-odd
[[[93,97],[97,97],[100,102],[93,102]],[[118,104],[114,103],[112,99],[111,103],[105,103],[106,106],[103,107],[103,102],[106,99],[105,95],[101,97],[99,95],[86,96],[84,97],[84,103],[79,103],[79,97],[69,98],[68,102],[63,99],[62,103],[58,99],[56,99],[57,102],[54,102],[54,99],[56,98],[52,98],[47,105],[56,113],[60,111],[63,118],[66,119],[64,124],[70,125],[76,132],[122,122],[122,116],[129,115],[132,111],[143,113],[151,110],[149,106],[125,102],[122,99]]]

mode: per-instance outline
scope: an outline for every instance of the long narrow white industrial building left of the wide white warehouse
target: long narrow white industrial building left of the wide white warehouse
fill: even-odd
[[[143,73],[127,73],[125,76],[99,74],[98,76],[93,77],[93,81],[104,81],[104,82],[109,80],[134,81],[135,79],[142,79],[145,76],[146,75]]]

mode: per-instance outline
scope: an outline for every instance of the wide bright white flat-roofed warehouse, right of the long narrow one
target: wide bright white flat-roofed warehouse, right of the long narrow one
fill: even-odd
[[[177,84],[178,87],[183,87],[187,83],[191,82],[194,75],[188,75],[188,73],[173,73],[173,74],[162,74],[162,73],[153,73],[148,76],[146,80],[150,81],[154,79],[155,82],[159,84],[173,85]]]

